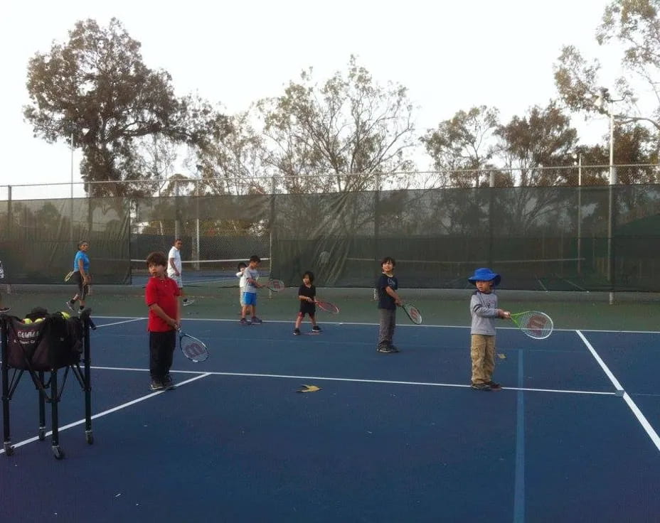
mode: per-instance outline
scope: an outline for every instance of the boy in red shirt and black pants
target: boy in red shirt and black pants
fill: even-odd
[[[151,390],[174,389],[169,374],[176,346],[176,330],[181,323],[178,296],[179,286],[167,277],[167,259],[162,252],[147,257],[151,278],[144,290],[144,301],[149,307],[149,372]]]

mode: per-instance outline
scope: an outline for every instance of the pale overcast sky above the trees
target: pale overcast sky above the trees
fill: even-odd
[[[605,0],[280,0],[250,2],[188,0],[5,0],[0,19],[0,200],[6,185],[80,182],[80,152],[33,137],[23,121],[28,60],[68,41],[76,21],[113,16],[134,40],[151,69],[172,76],[179,96],[198,93],[228,114],[281,95],[302,70],[321,82],[345,71],[351,54],[373,80],[408,88],[417,107],[417,134],[437,127],[459,110],[485,104],[501,121],[523,116],[533,105],[557,97],[553,64],[563,45],[605,65],[603,85],[620,74],[619,54],[599,47],[595,31]],[[607,119],[576,115],[585,144],[608,132]],[[73,164],[73,168],[72,168]],[[420,169],[427,168],[419,165]],[[72,175],[73,171],[73,175]],[[181,171],[183,172],[183,171]],[[43,198],[44,188],[14,187],[12,197]],[[50,186],[66,198],[70,186]],[[84,195],[74,185],[74,195]]]

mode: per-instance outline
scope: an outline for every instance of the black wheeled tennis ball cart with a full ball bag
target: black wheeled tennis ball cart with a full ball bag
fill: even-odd
[[[46,312],[46,311],[44,311]],[[38,392],[39,441],[46,439],[46,404],[50,404],[51,443],[56,459],[64,458],[60,448],[58,404],[68,375],[80,384],[85,396],[85,441],[94,443],[92,436],[92,385],[90,380],[90,329],[95,325],[90,309],[78,316],[68,313],[44,313],[34,320],[0,315],[1,381],[4,453],[14,454],[11,444],[9,406],[16,387],[24,374],[31,377]],[[81,367],[82,363],[82,367]],[[60,383],[58,374],[62,371]]]

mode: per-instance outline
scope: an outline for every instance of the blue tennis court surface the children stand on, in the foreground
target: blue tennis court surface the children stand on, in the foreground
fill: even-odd
[[[467,328],[400,325],[380,354],[377,325],[185,320],[211,357],[177,350],[152,393],[146,320],[95,321],[94,444],[69,377],[55,460],[23,376],[4,522],[659,521],[660,333],[498,329],[505,389],[476,392]]]

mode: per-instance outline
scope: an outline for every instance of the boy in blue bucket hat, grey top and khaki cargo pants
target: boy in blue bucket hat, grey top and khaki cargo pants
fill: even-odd
[[[467,281],[477,287],[470,298],[470,357],[472,358],[472,388],[474,390],[501,390],[501,385],[493,381],[495,370],[495,318],[511,319],[509,311],[497,308],[497,295],[494,288],[501,276],[491,269],[481,267],[474,271]]]

